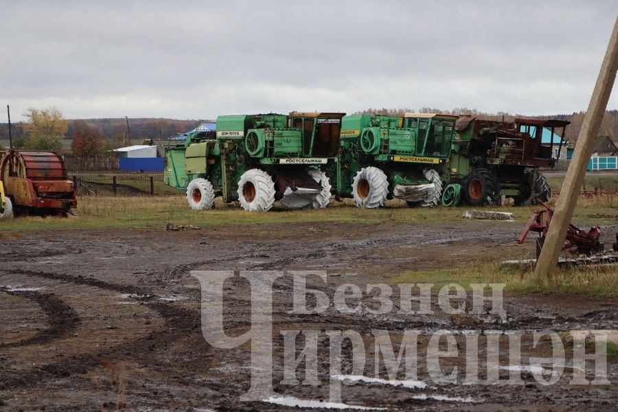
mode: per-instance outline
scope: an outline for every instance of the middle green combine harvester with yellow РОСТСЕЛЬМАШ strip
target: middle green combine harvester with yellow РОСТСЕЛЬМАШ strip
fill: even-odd
[[[458,116],[406,113],[403,117],[349,115],[341,124],[341,150],[330,174],[337,198],[361,209],[400,198],[434,207],[442,196],[442,166],[449,162]]]

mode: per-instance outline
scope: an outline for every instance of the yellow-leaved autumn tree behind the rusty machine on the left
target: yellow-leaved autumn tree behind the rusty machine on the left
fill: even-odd
[[[25,149],[60,150],[62,139],[69,130],[69,124],[56,107],[42,110],[29,107],[23,113],[27,120],[21,124],[27,139]]]

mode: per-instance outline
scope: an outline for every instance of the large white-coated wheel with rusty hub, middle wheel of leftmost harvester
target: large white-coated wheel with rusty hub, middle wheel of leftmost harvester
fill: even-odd
[[[244,172],[238,181],[238,201],[247,211],[267,211],[275,203],[275,183],[260,169]]]

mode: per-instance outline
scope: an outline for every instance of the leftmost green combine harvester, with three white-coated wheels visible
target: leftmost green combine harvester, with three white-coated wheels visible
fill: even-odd
[[[192,209],[214,198],[266,211],[279,201],[290,209],[326,207],[345,113],[219,116],[183,141],[165,146],[163,181],[186,190]]]

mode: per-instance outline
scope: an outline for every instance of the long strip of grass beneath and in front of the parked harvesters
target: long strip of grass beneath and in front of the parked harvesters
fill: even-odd
[[[617,222],[618,198],[580,199],[574,222],[580,225],[613,225]],[[0,230],[80,229],[80,228],[156,228],[167,222],[190,225],[264,225],[285,222],[363,222],[396,224],[398,222],[461,222],[461,214],[470,207],[436,207],[410,209],[402,201],[389,201],[382,209],[356,209],[347,199],[332,202],[326,209],[290,211],[275,205],[266,213],[247,212],[238,203],[225,204],[216,199],[212,210],[189,209],[185,196],[79,196],[77,217],[19,217],[0,223]],[[523,225],[535,207],[490,207],[514,214],[516,225]],[[473,220],[464,220],[474,225]]]

